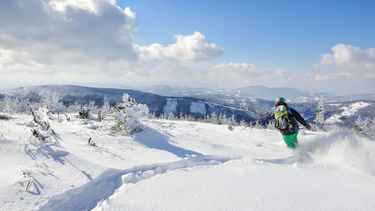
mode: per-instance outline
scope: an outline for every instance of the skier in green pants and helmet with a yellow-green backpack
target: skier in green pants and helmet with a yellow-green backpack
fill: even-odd
[[[278,129],[284,139],[285,144],[290,148],[298,146],[298,123],[305,126],[308,130],[311,126],[301,117],[301,115],[285,103],[285,99],[278,97],[275,101],[275,107],[272,111],[264,113],[266,120],[276,120],[275,127]]]

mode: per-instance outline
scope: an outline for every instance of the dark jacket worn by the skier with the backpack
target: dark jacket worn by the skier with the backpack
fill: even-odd
[[[306,123],[306,121],[303,119],[303,117],[301,117],[301,115],[296,110],[294,110],[293,108],[289,107],[287,105],[287,103],[285,103],[285,102],[278,102],[278,103],[275,104],[275,107],[279,106],[279,105],[284,105],[285,107],[287,107],[288,117],[292,118],[292,120],[290,121],[290,124],[292,124],[293,129],[294,129],[294,131],[288,131],[287,133],[285,133],[283,135],[292,135],[294,133],[297,133],[297,129],[299,129],[297,121],[300,124],[302,124],[303,126],[305,126],[305,127],[309,126],[309,124]],[[273,112],[273,109],[272,109],[272,111],[268,112],[268,114],[265,114],[264,118],[266,120],[274,120],[275,119],[275,113]]]

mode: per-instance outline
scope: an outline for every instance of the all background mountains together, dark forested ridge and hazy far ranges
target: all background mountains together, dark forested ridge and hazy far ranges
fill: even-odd
[[[96,84],[96,86],[97,85],[98,84]],[[262,86],[254,86],[231,90],[210,90],[206,88],[199,89],[191,87],[156,85],[126,87],[131,87],[132,89],[93,88],[75,85],[43,85],[20,88],[13,91],[7,91],[2,94],[13,98],[27,99],[29,102],[39,102],[40,100],[45,99],[45,97],[52,96],[53,93],[58,93],[59,98],[64,105],[69,105],[75,101],[81,103],[81,105],[95,101],[96,105],[101,106],[104,102],[109,102],[111,105],[115,105],[117,102],[122,102],[123,93],[128,93],[136,100],[137,103],[146,104],[150,109],[150,112],[155,113],[157,117],[159,117],[161,114],[168,115],[171,111],[173,112],[174,116],[183,113],[194,116],[195,118],[202,118],[216,112],[217,115],[226,114],[227,116],[231,116],[234,114],[237,121],[244,119],[247,122],[254,121],[261,117],[264,112],[270,111],[274,106],[274,99],[276,98],[275,96],[280,95],[288,99],[288,105],[299,111],[303,118],[305,118],[305,120],[310,124],[315,124],[313,120],[317,112],[317,101],[319,100],[318,97],[323,97],[324,108],[326,109],[325,118],[329,124],[352,127],[354,125],[354,121],[359,115],[367,118],[369,121],[373,120],[375,117],[374,100],[350,100],[348,96],[341,96],[341,100],[326,100],[328,97],[330,97],[330,95],[301,94],[300,91],[292,88],[267,88]],[[143,89],[145,91],[138,91],[135,89]],[[275,96],[270,93],[266,93],[265,90],[274,91],[275,93],[273,94]],[[210,93],[207,93],[209,91]],[[285,93],[283,93],[283,91]],[[254,94],[250,95],[250,92],[253,92]],[[167,95],[166,93],[169,93],[169,96],[162,96],[153,93],[163,93],[165,95]],[[207,93],[207,96],[210,97],[206,96],[206,99],[199,99],[198,97],[202,96],[203,94],[196,93]],[[226,94],[224,95],[222,93]],[[243,93],[248,94],[248,97],[239,97],[239,94]],[[255,95],[255,93],[258,95]],[[214,96],[226,96],[227,98],[214,98]],[[242,96],[245,96],[245,94]],[[270,100],[254,99],[258,98],[255,96],[266,96],[270,98]],[[298,98],[296,96],[304,96],[305,98]],[[360,98],[361,96],[362,95],[357,95],[356,97]],[[0,98],[1,97],[3,96],[0,95]],[[297,100],[293,101],[292,99],[303,99],[305,102],[296,102]],[[306,102],[308,100],[310,101]],[[263,119],[261,121],[264,123],[266,122],[266,120]]]

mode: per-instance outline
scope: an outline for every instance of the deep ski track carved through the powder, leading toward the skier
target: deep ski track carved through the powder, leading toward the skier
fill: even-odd
[[[109,198],[124,183],[136,184],[177,169],[221,165],[232,159],[219,156],[192,156],[175,162],[141,165],[130,169],[109,168],[89,183],[53,196],[40,210],[92,210],[98,202]]]

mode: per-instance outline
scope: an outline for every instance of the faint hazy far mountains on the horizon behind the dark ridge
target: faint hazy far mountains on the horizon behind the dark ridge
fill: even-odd
[[[57,84],[56,84],[57,85]],[[331,95],[326,93],[308,93],[299,91],[295,88],[275,87],[268,88],[261,85],[249,86],[244,88],[231,89],[211,89],[211,88],[193,88],[175,85],[121,85],[117,83],[76,83],[68,85],[79,85],[85,87],[99,88],[118,88],[138,90],[147,93],[174,96],[174,97],[195,97],[200,99],[264,99],[274,100],[277,97],[284,97],[288,102],[318,102],[321,98],[324,101],[354,101],[354,100],[375,100],[375,94],[355,94],[349,96]]]

